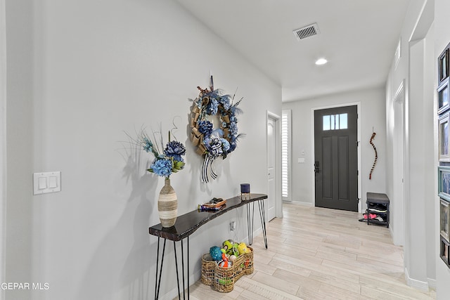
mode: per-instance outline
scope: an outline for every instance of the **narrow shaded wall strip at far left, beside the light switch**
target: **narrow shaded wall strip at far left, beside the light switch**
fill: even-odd
[[[32,282],[32,9],[6,4],[6,282]],[[12,15],[9,13],[11,11]],[[6,299],[30,299],[29,290]]]

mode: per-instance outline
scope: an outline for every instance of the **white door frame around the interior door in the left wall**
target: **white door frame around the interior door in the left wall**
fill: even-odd
[[[269,110],[266,110],[266,183],[269,181],[269,176],[267,175],[267,169],[269,168],[268,159],[267,159],[267,153],[268,151],[268,138],[267,138],[267,122],[270,119],[273,119],[275,122],[275,168],[276,168],[276,190],[275,190],[275,217],[276,218],[283,218],[283,203],[281,201],[281,117],[279,115],[274,114],[273,112],[270,112]],[[267,207],[268,208],[268,207]],[[266,214],[267,218],[267,214]]]

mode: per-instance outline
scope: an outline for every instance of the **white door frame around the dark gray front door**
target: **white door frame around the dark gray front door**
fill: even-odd
[[[345,106],[354,106],[356,105],[356,112],[358,114],[358,116],[361,115],[361,102],[352,102],[352,103],[341,103],[341,104],[335,104],[335,105],[326,105],[326,106],[321,106],[321,107],[312,107],[311,108],[311,162],[314,162],[314,151],[316,150],[314,148],[314,112],[316,110],[326,110],[327,108],[335,108],[335,107],[345,107]],[[362,196],[361,196],[361,189],[362,189],[362,183],[361,183],[361,121],[360,118],[357,118],[357,133],[356,133],[356,140],[359,142],[358,143],[358,170],[359,170],[359,175],[358,175],[358,212],[362,211]],[[316,206],[316,181],[315,181],[315,174],[314,174],[314,166],[311,166],[311,173],[310,173],[310,178],[311,178],[311,186],[312,186],[312,206],[315,207]]]

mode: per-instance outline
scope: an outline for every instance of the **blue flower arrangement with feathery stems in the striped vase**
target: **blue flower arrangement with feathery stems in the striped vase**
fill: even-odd
[[[146,131],[141,131],[138,143],[142,146],[144,151],[152,153],[155,157],[150,165],[150,169],[147,169],[147,171],[169,179],[172,173],[184,169],[185,162],[181,156],[186,154],[186,147],[184,147],[183,143],[178,141],[170,141],[170,131],[169,142],[166,144],[165,148],[162,143],[162,136],[160,136],[160,145],[155,143],[155,140],[155,132],[153,132],[152,141]]]

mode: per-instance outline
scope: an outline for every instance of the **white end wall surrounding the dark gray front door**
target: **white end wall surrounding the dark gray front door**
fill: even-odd
[[[311,109],[342,105],[343,103],[361,103],[361,202],[366,207],[366,192],[385,193],[385,94],[383,88],[367,89],[349,93],[340,93],[322,98],[299,100],[283,103],[283,110],[292,110],[292,200],[314,203],[314,162],[313,157],[313,116]],[[369,143],[373,130],[377,133],[373,143],[377,148],[378,162],[371,171],[375,153]],[[304,155],[302,155],[304,150]],[[298,164],[297,159],[304,158],[304,164]],[[361,207],[361,205],[359,206]]]

